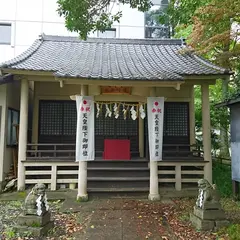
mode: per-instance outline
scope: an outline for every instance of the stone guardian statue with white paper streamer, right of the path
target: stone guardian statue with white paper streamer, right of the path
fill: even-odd
[[[198,208],[206,208],[208,205],[218,204],[220,200],[216,185],[211,185],[206,179],[198,181],[198,198],[196,206]]]

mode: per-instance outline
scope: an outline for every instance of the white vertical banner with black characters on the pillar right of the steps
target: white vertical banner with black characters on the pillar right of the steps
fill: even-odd
[[[150,161],[162,161],[164,97],[148,97],[147,111]]]

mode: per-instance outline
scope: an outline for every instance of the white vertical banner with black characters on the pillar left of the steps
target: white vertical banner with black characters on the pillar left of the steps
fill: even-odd
[[[90,161],[95,157],[94,100],[91,96],[76,96],[77,134],[76,161]]]

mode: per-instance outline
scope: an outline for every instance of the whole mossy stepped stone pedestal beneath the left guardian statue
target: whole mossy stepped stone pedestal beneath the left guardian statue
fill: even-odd
[[[47,235],[48,231],[53,228],[54,223],[51,221],[50,212],[43,216],[21,215],[18,218],[18,225],[15,230],[21,235],[28,232],[31,237],[42,237]]]

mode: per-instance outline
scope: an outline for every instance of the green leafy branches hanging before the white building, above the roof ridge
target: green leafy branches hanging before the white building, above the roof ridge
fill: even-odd
[[[104,32],[114,22],[119,22],[122,12],[111,13],[110,0],[58,0],[57,12],[65,18],[66,28],[79,33],[86,39],[90,32]],[[112,1],[112,2],[116,2]],[[121,0],[123,4],[129,1]],[[150,0],[131,0],[130,7],[139,11],[147,11],[151,7]]]

